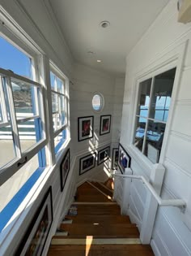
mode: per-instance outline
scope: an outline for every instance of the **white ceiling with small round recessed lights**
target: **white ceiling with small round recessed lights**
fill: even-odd
[[[125,73],[125,57],[169,0],[49,0],[74,59]],[[109,28],[100,22],[108,20]],[[87,54],[93,51],[94,54]],[[101,63],[96,60],[101,59]]]

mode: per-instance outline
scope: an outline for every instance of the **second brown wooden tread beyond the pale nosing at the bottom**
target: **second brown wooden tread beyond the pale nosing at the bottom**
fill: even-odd
[[[73,223],[130,223],[129,216],[122,215],[66,215]]]

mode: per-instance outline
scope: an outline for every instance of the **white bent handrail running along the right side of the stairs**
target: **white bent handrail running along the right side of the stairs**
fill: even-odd
[[[177,206],[177,207],[186,207],[186,202],[182,199],[162,199],[159,195],[155,192],[153,186],[143,177],[143,176],[134,176],[134,175],[125,175],[125,174],[112,174],[112,176],[119,176],[123,178],[129,179],[136,179],[142,180],[143,184],[146,184],[146,188],[152,193],[155,197],[156,201],[158,202],[159,206]]]

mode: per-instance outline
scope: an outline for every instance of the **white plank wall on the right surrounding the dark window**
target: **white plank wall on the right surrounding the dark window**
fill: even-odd
[[[177,72],[180,72],[180,77],[176,76],[176,92],[172,96],[173,110],[165,135],[168,143],[163,149],[160,163],[166,168],[162,196],[183,198],[188,202],[191,193],[191,119],[189,114],[191,111],[191,24],[177,23],[176,10],[176,1],[170,1],[126,59],[121,143],[132,156],[131,167],[134,174],[150,176],[152,164],[131,145],[134,133],[136,78],[140,74],[149,72],[153,67],[157,69],[157,65],[165,59],[173,58],[178,52],[183,53],[184,44],[187,42],[185,59],[182,59],[180,54],[177,63],[179,67]],[[182,66],[181,60],[183,60]],[[138,218],[142,219],[141,206],[144,206],[145,202],[142,184],[134,182],[131,190],[131,197],[135,202],[133,210],[138,211]],[[138,201],[141,204],[138,204]],[[161,207],[157,214],[151,241],[155,254],[191,255],[190,241],[191,232],[182,221],[180,209]]]

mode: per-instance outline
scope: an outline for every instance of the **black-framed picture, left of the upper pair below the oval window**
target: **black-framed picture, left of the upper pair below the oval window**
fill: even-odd
[[[84,141],[93,137],[93,126],[94,126],[93,116],[79,117],[78,119],[79,141]]]

